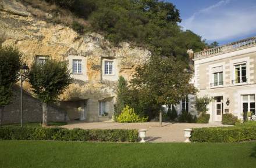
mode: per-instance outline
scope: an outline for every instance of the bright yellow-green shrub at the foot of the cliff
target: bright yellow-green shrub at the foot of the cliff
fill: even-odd
[[[141,117],[140,115],[134,112],[133,108],[130,108],[126,105],[123,108],[122,113],[118,116],[118,122],[146,122],[148,117]]]

